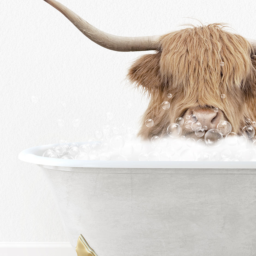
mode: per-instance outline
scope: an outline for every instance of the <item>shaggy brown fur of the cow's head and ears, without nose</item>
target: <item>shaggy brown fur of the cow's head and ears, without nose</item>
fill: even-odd
[[[256,60],[251,44],[242,36],[225,31],[223,23],[192,26],[163,35],[161,49],[138,58],[128,79],[150,97],[139,136],[151,139],[165,136],[169,124],[179,116],[185,119],[193,109],[218,107],[221,120],[240,133],[256,121]],[[224,66],[220,65],[224,62]],[[167,94],[171,93],[172,98]],[[221,94],[225,94],[224,99]],[[161,107],[163,101],[170,109]],[[146,127],[146,119],[154,125]],[[182,126],[183,135],[191,133]]]

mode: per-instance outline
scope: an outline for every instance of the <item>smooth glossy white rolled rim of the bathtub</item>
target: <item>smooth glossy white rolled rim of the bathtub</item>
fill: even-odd
[[[84,144],[86,142],[80,142]],[[256,169],[255,161],[100,161],[49,158],[38,155],[59,144],[30,147],[19,153],[21,161],[37,165],[56,167],[90,167],[90,168],[168,168],[168,169]]]

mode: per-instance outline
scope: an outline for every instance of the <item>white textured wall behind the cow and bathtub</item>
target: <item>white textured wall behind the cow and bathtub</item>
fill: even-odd
[[[256,39],[254,1],[61,2],[110,34],[164,34],[199,24],[187,18],[194,17],[229,23]],[[98,46],[43,0],[2,1],[0,24],[0,242],[67,242],[41,170],[19,161],[18,153],[60,139],[84,141],[106,124],[106,112],[116,124],[136,127],[147,102],[123,79],[143,52]],[[72,126],[75,118],[78,128]],[[57,119],[64,119],[64,127]]]

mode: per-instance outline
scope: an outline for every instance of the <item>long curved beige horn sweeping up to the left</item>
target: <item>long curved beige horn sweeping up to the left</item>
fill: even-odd
[[[118,52],[135,52],[157,50],[160,46],[159,35],[148,37],[120,37],[111,35],[95,28],[63,4],[55,0],[44,1],[66,16],[86,37],[107,49]]]

